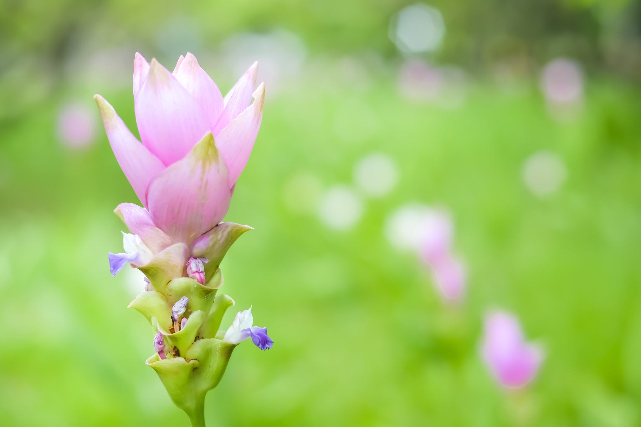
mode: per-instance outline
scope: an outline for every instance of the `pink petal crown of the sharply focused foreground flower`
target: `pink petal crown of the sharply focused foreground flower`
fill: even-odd
[[[116,213],[154,254],[190,245],[226,215],[262,120],[265,85],[254,91],[257,67],[223,98],[194,55],[181,56],[171,73],[137,53],[133,95],[142,143],[94,96],[113,154],[144,205],[124,203]]]

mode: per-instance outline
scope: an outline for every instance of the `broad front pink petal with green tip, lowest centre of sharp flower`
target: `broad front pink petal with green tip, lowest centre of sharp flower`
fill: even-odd
[[[149,184],[149,212],[172,243],[190,245],[229,209],[229,175],[211,132]]]

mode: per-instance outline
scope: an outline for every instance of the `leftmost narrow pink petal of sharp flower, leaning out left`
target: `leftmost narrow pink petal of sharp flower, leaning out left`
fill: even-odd
[[[147,186],[158,173],[165,169],[165,165],[133,136],[109,102],[100,95],[94,95],[94,100],[100,110],[104,130],[122,172],[129,180],[140,202],[147,205]]]

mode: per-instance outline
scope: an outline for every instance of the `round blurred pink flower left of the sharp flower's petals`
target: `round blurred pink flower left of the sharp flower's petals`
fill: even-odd
[[[85,147],[96,133],[94,112],[82,104],[67,104],[58,115],[58,135],[69,147]]]

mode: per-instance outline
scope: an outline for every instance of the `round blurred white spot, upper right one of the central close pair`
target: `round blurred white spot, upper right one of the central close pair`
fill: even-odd
[[[399,170],[387,154],[372,153],[354,167],[356,186],[370,197],[383,197],[396,186]]]

